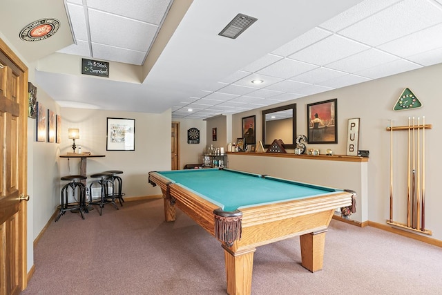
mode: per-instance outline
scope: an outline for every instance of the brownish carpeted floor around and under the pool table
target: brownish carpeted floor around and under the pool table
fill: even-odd
[[[227,294],[223,251],[180,210],[164,222],[162,200],[68,212],[39,240],[21,294]],[[323,270],[300,265],[299,238],[258,247],[252,294],[442,294],[442,249],[332,220]]]

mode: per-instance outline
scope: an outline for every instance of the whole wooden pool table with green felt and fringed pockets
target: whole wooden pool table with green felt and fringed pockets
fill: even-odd
[[[322,269],[334,211],[356,210],[354,191],[225,168],[152,171],[148,182],[162,190],[166,221],[178,207],[220,240],[228,294],[251,294],[256,247],[278,240],[300,236],[302,266]]]

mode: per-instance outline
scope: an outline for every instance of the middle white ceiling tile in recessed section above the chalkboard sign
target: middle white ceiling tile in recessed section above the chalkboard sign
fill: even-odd
[[[151,45],[157,26],[106,12],[88,9],[90,40],[119,48],[146,52]],[[109,38],[109,33],[112,38]]]

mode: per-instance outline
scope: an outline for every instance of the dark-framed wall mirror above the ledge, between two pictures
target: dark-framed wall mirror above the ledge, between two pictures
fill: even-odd
[[[282,140],[285,149],[294,149],[296,138],[296,104],[262,111],[262,143],[267,148],[273,140]]]

